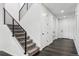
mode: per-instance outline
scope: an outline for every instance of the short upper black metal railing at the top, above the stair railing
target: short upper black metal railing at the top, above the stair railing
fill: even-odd
[[[26,12],[29,10],[31,7],[32,3],[24,3],[21,9],[19,10],[19,21],[21,18],[26,14]]]

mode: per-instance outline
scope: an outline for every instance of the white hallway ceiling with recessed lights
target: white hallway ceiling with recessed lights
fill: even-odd
[[[69,17],[75,14],[76,3],[45,3],[49,10],[51,10],[58,18]],[[64,10],[61,12],[61,10]]]

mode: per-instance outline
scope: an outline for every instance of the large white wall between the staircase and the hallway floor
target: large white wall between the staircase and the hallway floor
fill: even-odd
[[[51,13],[41,4],[33,4],[27,14],[21,19],[20,24],[40,49],[44,48],[54,40],[53,31],[55,30],[53,29],[55,20]],[[44,35],[42,35],[42,33],[44,33]]]

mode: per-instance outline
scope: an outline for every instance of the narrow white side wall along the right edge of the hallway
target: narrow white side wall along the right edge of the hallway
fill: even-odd
[[[76,34],[75,34],[75,46],[79,55],[79,4],[77,4],[77,7],[75,9],[75,15],[76,15]]]

